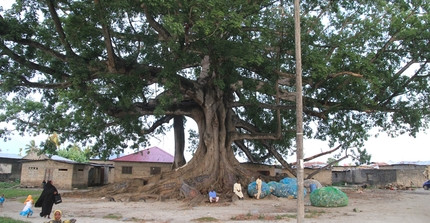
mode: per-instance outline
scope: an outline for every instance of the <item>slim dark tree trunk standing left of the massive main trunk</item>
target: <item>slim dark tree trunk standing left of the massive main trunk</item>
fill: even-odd
[[[173,118],[173,129],[175,134],[175,158],[173,160],[172,169],[176,169],[186,163],[184,157],[185,133],[183,116],[177,115]]]

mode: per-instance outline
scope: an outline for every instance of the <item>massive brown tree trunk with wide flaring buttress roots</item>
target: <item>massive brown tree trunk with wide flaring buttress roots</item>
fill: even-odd
[[[154,177],[147,192],[162,197],[178,197],[184,184],[206,194],[211,187],[222,194],[231,194],[239,177],[243,185],[250,182],[251,172],[239,165],[234,156],[229,132],[234,131],[229,109],[220,91],[205,89],[201,109],[192,112],[199,130],[199,146],[186,165]]]

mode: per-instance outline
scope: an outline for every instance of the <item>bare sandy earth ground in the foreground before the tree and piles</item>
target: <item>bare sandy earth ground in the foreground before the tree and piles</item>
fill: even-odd
[[[310,206],[305,197],[305,222],[348,222],[348,223],[428,223],[430,222],[430,191],[383,190],[341,188],[349,197],[349,204],[339,208]],[[61,191],[60,191],[61,192]],[[212,217],[217,222],[296,222],[297,200],[266,197],[261,200],[245,198],[234,202],[189,206],[182,201],[113,202],[106,198],[77,198],[66,195],[63,203],[54,205],[53,210],[63,211],[63,220],[75,218],[78,223],[118,222],[199,222]],[[34,208],[34,215],[25,218],[19,215],[24,204],[8,199],[0,208],[0,216],[11,217],[32,223],[47,219],[39,217],[40,208]],[[111,216],[109,218],[109,216]],[[242,220],[244,219],[244,220]],[[207,222],[207,221],[206,221]]]

